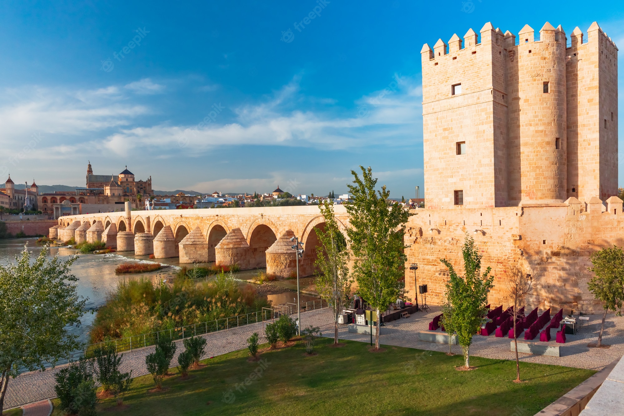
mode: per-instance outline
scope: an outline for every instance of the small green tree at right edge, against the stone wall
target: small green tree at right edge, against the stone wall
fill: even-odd
[[[594,297],[603,303],[605,309],[596,344],[597,347],[601,347],[607,311],[620,309],[624,300],[624,252],[614,245],[593,252],[590,259],[593,267],[589,267],[589,270],[595,277],[589,281],[587,287]]]

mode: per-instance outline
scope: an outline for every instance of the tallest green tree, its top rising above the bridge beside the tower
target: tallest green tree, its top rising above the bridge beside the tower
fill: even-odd
[[[401,281],[406,262],[403,234],[411,214],[397,202],[389,203],[386,186],[376,191],[377,179],[370,167],[360,169],[362,178],[351,171],[355,185],[348,186],[353,204],[346,206],[351,224],[347,235],[355,257],[353,274],[359,292],[379,317],[375,335],[375,348],[379,349],[381,311],[405,291]]]

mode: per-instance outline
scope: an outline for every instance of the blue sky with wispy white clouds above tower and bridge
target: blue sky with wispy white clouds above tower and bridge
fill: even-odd
[[[327,194],[364,165],[413,196],[422,44],[598,21],[623,45],[622,3],[590,4],[4,1],[1,180],[82,186],[90,160],[161,190]]]

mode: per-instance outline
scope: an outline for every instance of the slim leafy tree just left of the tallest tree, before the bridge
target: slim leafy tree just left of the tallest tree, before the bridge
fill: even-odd
[[[349,302],[353,279],[349,277],[347,242],[338,228],[334,206],[325,201],[318,206],[325,219],[324,229],[314,227],[321,244],[316,246],[316,290],[334,312],[334,344],[338,344],[338,316]]]

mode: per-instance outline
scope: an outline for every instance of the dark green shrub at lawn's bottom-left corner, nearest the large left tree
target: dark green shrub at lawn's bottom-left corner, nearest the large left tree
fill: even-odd
[[[54,380],[54,391],[66,414],[95,415],[95,385],[87,360],[72,362],[59,370]]]

